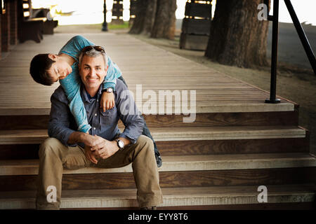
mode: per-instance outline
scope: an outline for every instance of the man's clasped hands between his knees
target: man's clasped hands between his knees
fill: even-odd
[[[117,151],[119,151],[119,146],[117,146],[117,141],[104,141],[96,146],[91,147],[91,151],[93,151],[93,155],[96,157],[100,157],[103,160],[109,158],[114,155]]]

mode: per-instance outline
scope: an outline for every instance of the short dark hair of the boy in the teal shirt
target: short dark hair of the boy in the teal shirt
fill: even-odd
[[[33,57],[29,66],[29,73],[35,82],[43,85],[52,85],[54,83],[47,72],[53,62],[54,61],[48,57],[48,54],[39,54]]]

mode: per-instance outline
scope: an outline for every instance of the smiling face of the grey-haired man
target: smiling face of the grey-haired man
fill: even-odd
[[[97,57],[84,55],[79,73],[86,90],[98,89],[107,74],[103,55]]]

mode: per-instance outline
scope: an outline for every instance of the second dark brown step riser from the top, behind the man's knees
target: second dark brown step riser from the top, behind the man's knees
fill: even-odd
[[[224,139],[156,141],[159,152],[166,155],[208,155],[244,153],[308,153],[310,132],[305,138]],[[37,160],[39,144],[0,145],[0,160]]]

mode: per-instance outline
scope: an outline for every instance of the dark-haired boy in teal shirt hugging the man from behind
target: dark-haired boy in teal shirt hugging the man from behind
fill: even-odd
[[[32,59],[29,68],[29,73],[37,83],[52,85],[58,80],[60,81],[60,85],[64,89],[68,101],[70,102],[70,111],[76,120],[79,132],[88,132],[88,130],[91,129],[91,126],[88,124],[84,103],[80,96],[81,81],[78,71],[80,52],[83,48],[89,45],[93,45],[95,48],[100,48],[83,36],[74,36],[60,49],[58,55],[36,55]],[[126,85],[124,78],[121,77],[119,67],[112,62],[110,57],[107,57],[107,59],[107,75],[103,82],[103,94],[100,102],[100,107],[103,108],[103,111],[114,107],[113,91],[115,90],[116,78],[121,79]],[[146,123],[143,128],[143,134],[152,139]],[[162,159],[156,143],[153,139],[152,141],[154,143],[154,155],[156,157],[157,166],[161,167]]]

